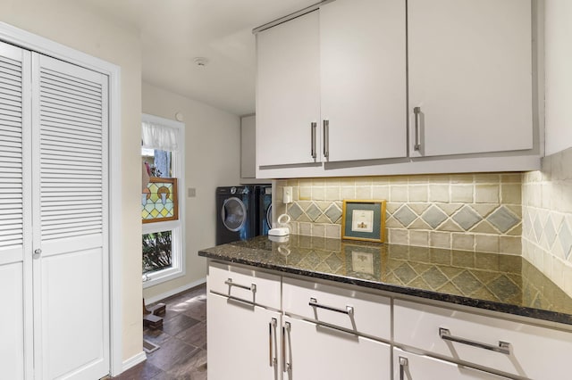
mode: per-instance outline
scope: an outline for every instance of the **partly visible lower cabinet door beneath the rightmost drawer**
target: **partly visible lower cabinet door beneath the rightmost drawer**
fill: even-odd
[[[496,376],[449,361],[393,349],[393,379],[502,380],[509,379],[509,377]]]

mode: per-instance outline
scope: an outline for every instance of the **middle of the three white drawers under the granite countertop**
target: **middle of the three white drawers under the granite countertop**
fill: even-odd
[[[391,337],[391,300],[337,286],[284,278],[286,314],[338,326],[381,339]]]

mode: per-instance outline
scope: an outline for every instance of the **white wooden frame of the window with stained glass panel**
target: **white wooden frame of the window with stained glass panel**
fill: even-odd
[[[172,244],[172,266],[157,270],[152,273],[141,273],[141,281],[143,288],[155,286],[172,279],[183,277],[186,274],[185,263],[185,193],[183,192],[185,184],[185,124],[180,121],[164,119],[155,115],[143,113],[141,121],[147,121],[155,124],[164,125],[165,127],[174,128],[178,135],[178,149],[172,152],[171,169],[173,178],[177,178],[177,192],[179,196],[179,219],[161,221],[156,223],[141,223],[141,235],[153,232],[171,231]],[[140,154],[140,152],[139,152]],[[141,255],[143,253],[141,252]],[[142,256],[141,256],[142,259]]]

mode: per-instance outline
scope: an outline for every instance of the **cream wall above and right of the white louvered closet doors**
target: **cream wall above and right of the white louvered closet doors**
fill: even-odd
[[[122,359],[142,351],[139,32],[66,0],[3,0],[1,21],[121,67]],[[136,138],[133,138],[136,136]],[[86,326],[88,328],[88,326]]]

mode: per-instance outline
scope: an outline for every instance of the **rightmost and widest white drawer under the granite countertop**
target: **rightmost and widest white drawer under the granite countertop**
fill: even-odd
[[[568,373],[572,333],[402,300],[393,310],[397,345],[531,379]]]

